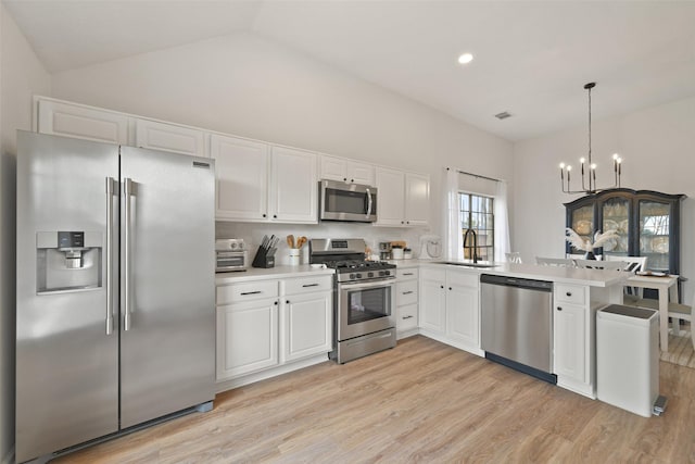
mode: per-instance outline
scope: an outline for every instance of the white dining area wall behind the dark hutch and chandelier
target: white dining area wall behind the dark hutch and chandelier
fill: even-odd
[[[513,248],[527,261],[535,255],[564,255],[563,203],[579,196],[560,192],[558,165],[560,161],[579,164],[587,150],[586,130],[586,126],[576,127],[515,145]],[[695,98],[594,121],[592,158],[605,174],[598,186],[612,183],[614,152],[624,158],[622,187],[687,195],[682,208],[681,274],[691,279],[684,286],[690,302],[695,279]]]

